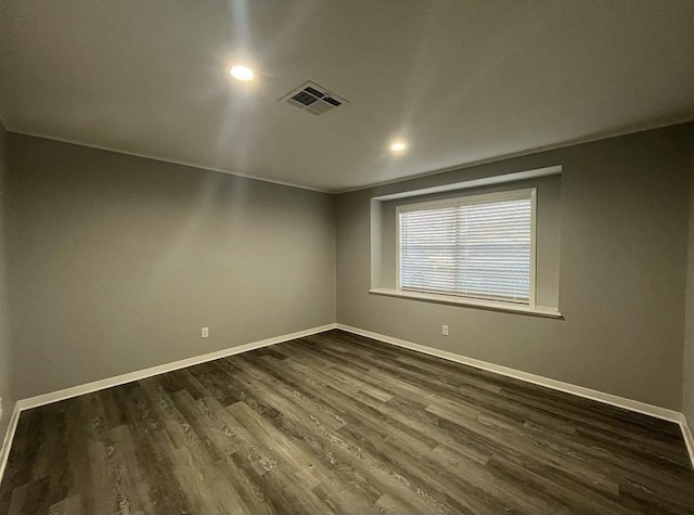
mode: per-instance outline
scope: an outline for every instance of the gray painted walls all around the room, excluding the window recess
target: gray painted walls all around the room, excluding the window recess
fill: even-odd
[[[680,410],[693,133],[677,126],[347,193],[336,220],[330,195],[9,134],[0,249],[12,274],[0,274],[0,294],[14,344],[10,355],[0,312],[0,395],[333,322],[336,259],[342,323]],[[557,164],[566,320],[368,294],[372,196]],[[686,342],[692,423],[692,325]]]

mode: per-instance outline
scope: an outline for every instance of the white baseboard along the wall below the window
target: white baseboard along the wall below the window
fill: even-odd
[[[587,399],[596,400],[606,404],[624,408],[625,410],[635,411],[645,415],[656,416],[670,422],[681,423],[682,414],[679,411],[668,410],[658,405],[647,404],[638,400],[627,399],[626,397],[619,397],[613,394],[606,394],[604,391],[586,388],[583,386],[571,385],[570,383],[564,383],[562,381],[551,379],[541,375],[530,374],[509,366],[502,366],[487,361],[477,360],[474,358],[467,358],[465,356],[449,352],[447,350],[435,349],[434,347],[427,347],[425,345],[414,344],[404,339],[394,338],[378,333],[372,333],[371,331],[364,331],[359,327],[352,327],[350,325],[337,324],[337,329],[347,331],[349,333],[367,336],[368,338],[377,339],[386,344],[397,345],[410,350],[416,350],[417,352],[424,352],[426,355],[436,356],[445,360],[454,361],[457,363],[467,364],[476,369],[494,372],[497,374],[514,377],[516,379],[525,381],[540,386],[545,386],[554,390],[564,391],[566,394],[573,394]]]

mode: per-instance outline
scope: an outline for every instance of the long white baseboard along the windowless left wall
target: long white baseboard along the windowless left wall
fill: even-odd
[[[94,381],[93,383],[87,383],[85,385],[73,386],[57,391],[51,391],[50,394],[43,394],[36,397],[29,397],[17,401],[17,407],[21,411],[29,410],[31,408],[38,408],[39,405],[50,404],[51,402],[57,402],[60,400],[69,399],[72,397],[78,397],[85,394],[91,394],[92,391],[103,390],[113,386],[123,385],[125,383],[131,383],[133,381],[144,379],[152,377],[153,375],[164,374],[166,372],[172,372],[175,370],[184,369],[194,364],[205,363],[207,361],[214,361],[219,358],[226,358],[228,356],[239,355],[241,352],[247,352],[248,350],[259,349],[261,347],[268,347],[270,345],[281,344],[290,339],[301,338],[316,333],[322,333],[335,329],[336,324],[320,325],[318,327],[311,327],[296,333],[284,334],[282,336],[275,336],[273,338],[261,339],[260,342],[252,342],[249,344],[239,345],[236,347],[230,347],[228,349],[217,350],[202,356],[195,356],[193,358],[187,358],[171,363],[159,364],[151,366],[149,369],[139,370],[136,372],[129,372],[127,374],[116,375],[106,379]]]

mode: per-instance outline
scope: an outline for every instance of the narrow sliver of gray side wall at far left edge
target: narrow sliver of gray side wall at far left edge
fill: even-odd
[[[5,271],[4,244],[4,208],[7,203],[5,170],[7,170],[7,132],[0,121],[0,398],[2,398],[0,415],[0,446],[14,409],[10,373],[10,324],[8,320],[8,274]]]

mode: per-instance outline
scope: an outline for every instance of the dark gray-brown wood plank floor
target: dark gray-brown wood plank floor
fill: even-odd
[[[1,513],[692,513],[676,424],[340,331],[24,412]]]

